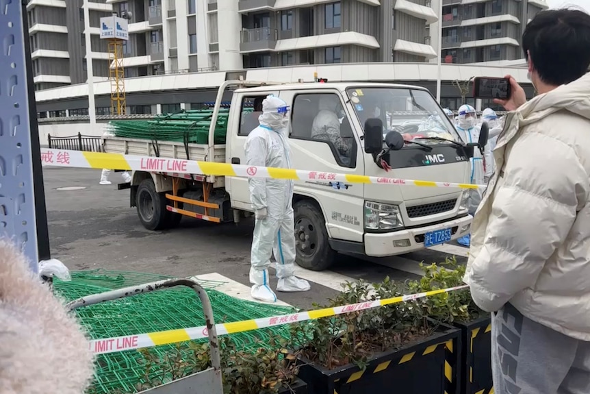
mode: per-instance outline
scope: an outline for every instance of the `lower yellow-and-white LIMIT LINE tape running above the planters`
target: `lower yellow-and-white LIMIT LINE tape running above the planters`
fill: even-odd
[[[441,290],[426,291],[424,293],[402,295],[399,297],[387,299],[377,299],[375,301],[361,302],[359,304],[350,304],[344,306],[336,306],[334,308],[309,310],[307,312],[292,313],[290,315],[262,317],[260,319],[235,321],[233,323],[218,323],[215,325],[215,327],[218,335],[236,334],[238,332],[257,330],[259,328],[268,328],[277,325],[296,323],[300,321],[320,319],[322,317],[342,315],[344,313],[355,312],[357,310],[379,308],[381,306],[398,304],[400,302],[405,301],[413,301],[415,299],[430,297],[432,295],[437,295],[441,293],[448,293],[450,291],[457,291],[467,287],[467,285],[456,286],[444,288]],[[178,343],[194,339],[207,338],[207,334],[207,326],[202,325],[201,327],[181,328],[179,330],[168,330],[150,332],[147,334],[136,334],[117,336],[114,338],[95,339],[90,341],[89,346],[90,350],[94,352],[94,354],[107,354],[123,352],[125,350],[131,349],[142,349],[144,347],[153,347],[159,345],[167,345],[169,343]]]

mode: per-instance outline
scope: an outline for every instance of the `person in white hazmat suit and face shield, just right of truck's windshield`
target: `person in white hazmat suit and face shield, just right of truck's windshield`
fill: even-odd
[[[459,108],[459,119],[457,120],[457,132],[465,143],[476,143],[479,139],[480,125],[477,125],[477,112],[475,108],[468,104],[464,104]],[[474,156],[470,159],[471,162],[471,176],[470,184],[484,184],[486,177],[491,175],[491,169],[486,168],[485,162],[491,161],[491,150],[489,144],[485,145],[484,155],[482,156],[478,148],[474,149]],[[475,214],[477,207],[481,201],[483,190],[469,189],[469,213]],[[457,240],[463,246],[470,246],[471,236],[467,234]]]

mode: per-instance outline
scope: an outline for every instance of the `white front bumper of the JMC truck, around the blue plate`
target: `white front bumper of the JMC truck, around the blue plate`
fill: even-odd
[[[445,228],[451,229],[451,239],[455,240],[470,233],[472,219],[471,215],[467,215],[426,227],[396,232],[365,233],[365,254],[373,257],[396,256],[424,249],[424,234]]]

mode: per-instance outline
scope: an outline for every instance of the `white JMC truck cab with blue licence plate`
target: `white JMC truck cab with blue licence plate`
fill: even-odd
[[[290,130],[285,132],[292,167],[318,173],[314,180],[295,182],[294,231],[300,266],[326,269],[339,251],[365,256],[405,254],[469,232],[467,190],[400,181],[469,180],[470,149],[428,90],[370,83],[235,90],[227,162],[245,164],[251,118],[259,115],[245,109],[271,94],[290,106]],[[378,132],[381,140],[394,132],[401,146],[381,143],[379,152],[367,151],[367,127],[372,127],[373,138]],[[379,177],[382,184],[335,182],[331,173]],[[226,177],[225,188],[233,208],[251,210],[246,178]]]

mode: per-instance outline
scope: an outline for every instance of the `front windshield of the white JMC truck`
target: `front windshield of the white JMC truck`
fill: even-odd
[[[384,135],[395,130],[407,141],[435,137],[463,142],[435,99],[425,90],[348,88],[346,93],[363,132],[367,119],[379,118],[383,121]],[[417,142],[428,145],[448,144],[440,139],[420,139]]]

